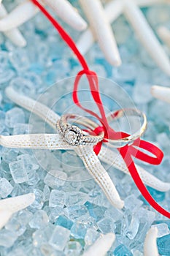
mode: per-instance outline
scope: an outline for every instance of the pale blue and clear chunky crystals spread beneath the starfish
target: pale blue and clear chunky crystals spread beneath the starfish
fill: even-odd
[[[10,4],[12,1],[7,1],[9,7]],[[154,29],[159,23],[170,26],[169,7],[150,7],[144,9],[144,13]],[[163,148],[165,158],[159,167],[142,166],[163,181],[170,182],[169,105],[152,99],[150,95],[152,84],[170,86],[170,79],[155,67],[123,17],[118,18],[112,26],[123,65],[111,67],[98,45],[93,45],[86,59],[91,69],[99,76],[119,83],[136,106],[147,113],[148,128],[144,138],[158,143]],[[77,60],[42,15],[36,15],[20,30],[28,42],[24,49],[16,48],[2,34],[0,38],[0,133],[3,135],[27,134],[30,130],[28,112],[9,101],[4,94],[7,86],[36,98],[56,80],[80,71]],[[69,31],[77,39],[77,32]],[[72,85],[68,86],[72,89]],[[60,90],[62,92],[63,89]],[[58,113],[62,113],[69,104],[72,105],[72,99],[66,103],[63,98]],[[113,167],[109,168],[109,174],[125,200],[123,210],[111,206],[96,183],[87,180],[85,168],[74,154],[53,152],[50,158],[47,152],[37,151],[35,158],[30,150],[1,147],[0,156],[0,198],[26,192],[34,192],[36,196],[31,206],[14,214],[0,230],[0,255],[79,256],[101,233],[114,232],[116,240],[108,255],[141,256],[144,237],[151,225],[158,227],[159,253],[170,255],[170,221],[148,206],[130,177]],[[36,161],[41,157],[45,170],[49,172]],[[82,175],[86,177],[84,181]],[[72,177],[78,178],[74,181]],[[155,200],[169,208],[170,192],[148,189]]]

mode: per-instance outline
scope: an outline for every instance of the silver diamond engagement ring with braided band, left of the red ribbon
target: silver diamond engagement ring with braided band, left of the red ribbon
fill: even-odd
[[[86,133],[79,127],[68,123],[69,120],[72,120],[72,123],[82,124],[84,127],[87,127],[88,129],[90,129],[90,124],[88,124],[87,121],[80,121],[84,119],[86,120],[88,118],[84,118],[82,116],[74,115],[74,114],[66,114],[61,116],[61,118],[57,121],[57,124],[56,124],[58,134],[62,136],[63,140],[65,140],[66,143],[69,143],[69,145],[72,145],[72,146],[80,146],[80,145],[87,145],[87,144],[95,145],[99,141],[103,140],[104,132],[100,132],[98,135],[95,135],[95,136],[88,135],[88,133]],[[91,122],[93,123],[93,121]],[[96,126],[98,126],[98,124],[96,124]]]

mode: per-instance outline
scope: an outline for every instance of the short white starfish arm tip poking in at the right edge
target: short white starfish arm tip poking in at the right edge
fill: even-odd
[[[170,103],[170,88],[163,86],[152,86],[151,94],[157,99]]]

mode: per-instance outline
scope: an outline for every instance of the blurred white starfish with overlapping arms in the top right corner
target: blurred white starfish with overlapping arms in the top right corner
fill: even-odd
[[[86,4],[88,2],[88,4]],[[155,4],[163,2],[161,0],[112,0],[108,2],[102,10],[99,0],[84,1],[80,0],[85,14],[90,23],[90,29],[86,30],[77,42],[77,47],[82,54],[88,52],[93,45],[95,39],[104,51],[106,59],[111,64],[120,64],[117,55],[117,48],[115,46],[113,32],[111,33],[109,23],[112,23],[120,14],[124,14],[131,26],[134,28],[140,42],[144,45],[151,58],[167,75],[170,75],[170,61],[169,57],[163,50],[162,45],[155,37],[150,25],[147,23],[140,6],[145,4]],[[94,6],[96,9],[94,9]],[[105,15],[104,15],[105,13]],[[93,15],[95,14],[95,18]],[[102,15],[101,15],[102,14]],[[115,53],[115,57],[114,57]],[[115,58],[119,61],[116,61]]]

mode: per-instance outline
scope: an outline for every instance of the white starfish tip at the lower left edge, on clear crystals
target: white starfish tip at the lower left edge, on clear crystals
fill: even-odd
[[[35,195],[33,193],[0,200],[0,229],[7,224],[12,214],[30,206],[34,200]]]

